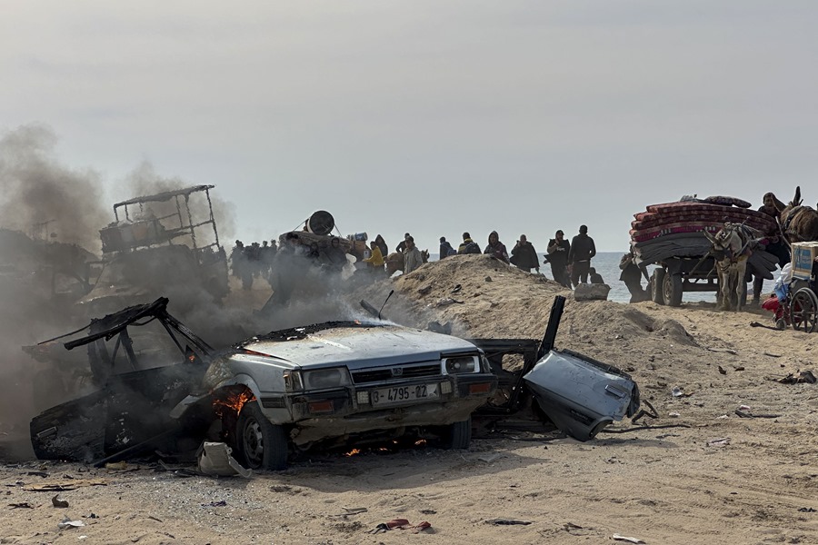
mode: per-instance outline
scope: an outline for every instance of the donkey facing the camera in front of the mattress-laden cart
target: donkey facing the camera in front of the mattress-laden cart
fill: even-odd
[[[751,236],[740,223],[724,223],[724,227],[713,236],[703,231],[713,248],[711,253],[716,260],[716,272],[719,275],[719,291],[722,302],[719,310],[741,311],[744,300],[744,274],[747,271],[747,259],[750,250]],[[733,308],[733,294],[735,308]]]

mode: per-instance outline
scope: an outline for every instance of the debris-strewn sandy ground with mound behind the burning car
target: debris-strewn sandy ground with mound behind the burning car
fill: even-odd
[[[351,299],[382,302],[395,289],[384,315],[397,322],[434,318],[474,337],[542,336],[560,292],[554,282],[483,256],[448,261]],[[462,303],[439,304],[447,297]],[[558,347],[631,372],[660,416],[640,424],[684,427],[586,443],[506,431],[468,451],[319,453],[250,480],[185,477],[153,464],[6,463],[0,542],[603,543],[616,534],[646,543],[818,543],[818,384],[777,381],[818,371],[818,335],[753,321],[772,324],[769,314],[704,303],[569,300]],[[674,387],[686,395],[673,397]],[[775,416],[740,418],[742,405]],[[68,508],[52,505],[55,492],[26,490],[80,480],[105,484],[62,491]],[[348,514],[357,508],[365,510]],[[85,526],[58,530],[66,517]],[[432,527],[368,533],[395,518]],[[494,519],[526,524],[487,522]]]

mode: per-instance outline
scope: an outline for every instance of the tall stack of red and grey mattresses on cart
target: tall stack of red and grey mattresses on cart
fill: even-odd
[[[661,263],[672,257],[701,257],[710,251],[703,231],[715,234],[724,223],[744,223],[762,235],[777,233],[775,218],[750,209],[751,204],[734,197],[685,197],[677,203],[651,204],[633,214],[631,246],[637,263]],[[766,252],[752,257],[753,269],[772,278],[777,261]],[[768,263],[773,263],[772,268]]]

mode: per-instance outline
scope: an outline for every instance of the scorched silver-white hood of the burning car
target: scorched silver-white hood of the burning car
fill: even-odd
[[[401,326],[329,327],[296,338],[251,339],[241,348],[296,366],[346,365],[361,369],[411,362],[439,362],[442,355],[479,352],[471,342],[451,335]]]

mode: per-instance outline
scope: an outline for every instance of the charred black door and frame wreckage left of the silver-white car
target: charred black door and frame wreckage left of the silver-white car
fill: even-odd
[[[200,388],[213,348],[171,316],[167,302],[125,308],[63,337],[88,330],[64,347],[85,347],[95,389],[31,421],[37,458],[98,461],[181,430],[170,411]],[[56,352],[59,339],[27,348]],[[190,429],[192,417],[184,422]]]

